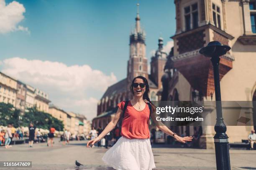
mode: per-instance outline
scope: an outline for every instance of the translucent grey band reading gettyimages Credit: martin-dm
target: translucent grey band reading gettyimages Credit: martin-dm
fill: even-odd
[[[168,126],[214,126],[216,123],[215,101],[152,101],[154,122]],[[221,102],[225,125],[251,126],[256,122],[253,107],[256,101]],[[253,120],[255,119],[255,120]]]

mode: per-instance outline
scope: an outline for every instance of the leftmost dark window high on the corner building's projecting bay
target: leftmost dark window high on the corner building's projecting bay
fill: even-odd
[[[198,7],[197,3],[184,8],[185,30],[198,27]]]

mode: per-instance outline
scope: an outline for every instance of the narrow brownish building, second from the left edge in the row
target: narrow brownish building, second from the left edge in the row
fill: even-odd
[[[20,110],[23,115],[26,107],[26,84],[17,80],[17,95],[15,107]]]

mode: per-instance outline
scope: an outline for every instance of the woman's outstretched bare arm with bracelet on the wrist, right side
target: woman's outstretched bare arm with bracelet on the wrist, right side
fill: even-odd
[[[156,124],[157,128],[159,128],[162,132],[164,132],[164,133],[166,133],[168,135],[171,135],[171,136],[174,135],[174,132],[172,132],[172,130],[167,128],[167,126],[164,125],[164,123],[162,123],[161,121],[157,121],[156,120],[156,113],[155,112],[153,112],[151,114],[151,119],[154,121],[154,123]],[[175,133],[174,139],[176,139],[177,141],[179,141],[181,143],[186,143],[186,142],[192,141],[193,137],[192,136],[186,136],[186,137],[182,138],[182,137],[180,137],[179,135],[177,135]]]

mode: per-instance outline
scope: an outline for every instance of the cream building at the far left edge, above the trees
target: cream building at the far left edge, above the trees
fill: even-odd
[[[16,105],[17,80],[0,72],[0,102]]]

